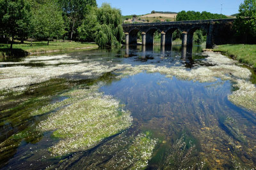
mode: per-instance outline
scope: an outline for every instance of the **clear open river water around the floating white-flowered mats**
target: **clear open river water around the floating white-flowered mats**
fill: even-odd
[[[165,49],[160,46],[129,46],[123,50],[95,50],[69,55],[81,62],[90,62],[84,60],[86,56],[106,64],[154,64],[191,69],[207,65],[202,62],[206,56],[200,55],[201,50],[200,46],[194,46],[192,55],[191,50],[185,51],[180,46]],[[1,149],[3,169],[44,169],[49,166],[60,169],[131,169],[127,162],[133,159],[127,159],[129,154],[127,156],[124,152],[141,132],[157,139],[148,169],[252,169],[256,166],[255,113],[228,101],[228,94],[234,90],[231,81],[218,79],[200,83],[166,78],[160,73],[143,72],[123,78],[117,77],[119,74],[114,71],[93,80],[49,80],[31,86],[33,91],[4,99],[6,103],[2,104],[0,117],[1,142],[24,129],[36,127],[51,113],[30,117],[29,111],[63,100],[59,94],[77,85],[100,84],[100,92],[125,104],[125,110],[131,111],[133,122],[126,131],[104,139],[90,150],[55,158],[47,148],[58,139],[51,137],[52,132],[32,131],[24,138],[4,143],[7,148]],[[23,101],[26,102],[20,106]],[[6,111],[8,109],[12,110]]]

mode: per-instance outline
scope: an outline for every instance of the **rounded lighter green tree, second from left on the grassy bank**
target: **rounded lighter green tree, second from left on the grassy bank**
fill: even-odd
[[[60,38],[64,34],[62,11],[54,1],[40,4],[33,16],[33,36],[38,39]]]

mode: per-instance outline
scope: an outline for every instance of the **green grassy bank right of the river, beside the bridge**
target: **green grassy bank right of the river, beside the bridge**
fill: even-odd
[[[256,71],[256,45],[218,45],[214,52],[223,52]]]

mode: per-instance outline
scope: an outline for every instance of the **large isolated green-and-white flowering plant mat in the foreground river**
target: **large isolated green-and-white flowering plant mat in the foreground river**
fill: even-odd
[[[53,113],[37,127],[40,131],[54,131],[52,136],[60,138],[50,148],[54,155],[87,150],[132,123],[129,111],[122,110],[113,97],[88,89],[69,92],[74,98],[76,94],[85,96]]]

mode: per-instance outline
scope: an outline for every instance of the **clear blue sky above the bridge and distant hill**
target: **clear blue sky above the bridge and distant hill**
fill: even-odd
[[[238,13],[243,0],[97,0],[98,6],[109,3],[122,11],[122,15],[141,15],[155,11],[209,11],[232,15]]]

